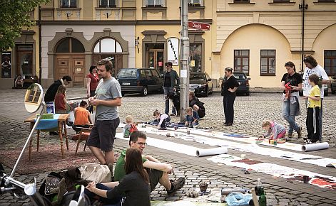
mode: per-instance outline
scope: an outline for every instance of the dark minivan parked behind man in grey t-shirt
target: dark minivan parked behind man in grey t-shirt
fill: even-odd
[[[163,80],[159,72],[152,68],[123,68],[119,70],[117,80],[121,85],[121,93],[163,92]]]

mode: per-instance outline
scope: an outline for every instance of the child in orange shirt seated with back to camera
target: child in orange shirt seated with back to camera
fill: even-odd
[[[88,107],[88,102],[82,100],[79,104],[80,107],[73,109],[73,114],[75,115],[75,123],[72,128],[77,133],[81,131],[81,127],[88,128],[92,121],[90,119],[90,112],[86,109]],[[78,128],[79,127],[79,128]]]

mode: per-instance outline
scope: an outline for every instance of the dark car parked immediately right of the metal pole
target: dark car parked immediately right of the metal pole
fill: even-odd
[[[196,96],[208,97],[213,93],[213,82],[206,72],[190,72],[189,91]]]

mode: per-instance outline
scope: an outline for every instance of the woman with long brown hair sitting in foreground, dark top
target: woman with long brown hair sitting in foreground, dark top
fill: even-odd
[[[141,151],[138,148],[128,148],[125,162],[126,175],[120,180],[119,185],[111,190],[96,188],[96,183],[89,183],[86,187],[92,193],[101,197],[115,199],[125,195],[123,206],[150,206],[151,187],[146,170],[143,168]],[[117,205],[121,205],[118,202]]]

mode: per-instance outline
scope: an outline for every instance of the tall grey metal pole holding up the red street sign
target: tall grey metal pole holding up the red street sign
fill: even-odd
[[[181,38],[180,38],[180,121],[185,121],[185,109],[189,107],[189,37],[188,1],[180,0]]]

